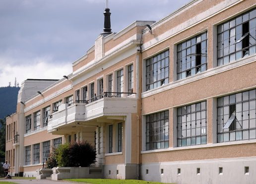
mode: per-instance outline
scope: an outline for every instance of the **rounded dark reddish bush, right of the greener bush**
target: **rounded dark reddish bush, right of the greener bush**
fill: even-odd
[[[68,155],[68,167],[89,167],[96,162],[95,148],[87,141],[71,143]]]

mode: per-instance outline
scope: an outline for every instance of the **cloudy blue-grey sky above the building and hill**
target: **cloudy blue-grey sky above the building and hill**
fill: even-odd
[[[159,21],[191,0],[109,0],[111,28]],[[106,0],[0,0],[0,87],[61,79],[103,32]]]

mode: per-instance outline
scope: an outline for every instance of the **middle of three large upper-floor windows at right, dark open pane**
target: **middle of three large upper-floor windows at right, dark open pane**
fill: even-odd
[[[207,70],[207,32],[177,46],[177,79]]]

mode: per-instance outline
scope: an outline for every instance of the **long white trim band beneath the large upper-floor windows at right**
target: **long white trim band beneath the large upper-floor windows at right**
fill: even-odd
[[[188,84],[188,83],[192,83],[194,81],[197,81],[197,80],[200,80],[200,79],[203,79],[203,78],[206,78],[206,77],[210,77],[210,76],[213,76],[213,75],[216,75],[216,74],[219,74],[219,73],[222,73],[222,72],[234,69],[234,68],[238,68],[240,66],[243,66],[243,65],[246,65],[246,64],[249,64],[249,63],[253,63],[253,62],[255,62],[255,60],[256,60],[256,55],[252,55],[252,56],[247,56],[246,58],[242,58],[240,60],[237,60],[235,62],[229,63],[227,65],[221,65],[221,66],[218,66],[218,67],[215,67],[215,68],[210,68],[210,69],[208,69],[204,72],[201,72],[199,74],[196,74],[194,76],[187,77],[187,78],[182,79],[182,80],[171,82],[169,84],[166,84],[164,86],[152,89],[152,90],[147,91],[147,92],[142,92],[141,98],[145,98],[147,96],[150,96],[150,95],[153,95],[153,94],[156,94],[156,93],[159,93],[159,92],[164,92],[164,91],[170,90],[172,88],[176,88],[176,87],[179,87],[179,86],[182,86],[182,85],[185,85],[185,84]]]

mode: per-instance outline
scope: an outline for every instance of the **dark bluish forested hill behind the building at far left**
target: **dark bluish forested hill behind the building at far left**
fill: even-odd
[[[19,87],[0,87],[0,119],[16,112]]]

